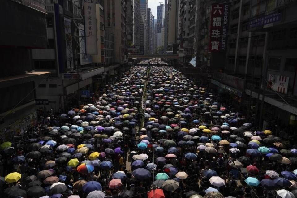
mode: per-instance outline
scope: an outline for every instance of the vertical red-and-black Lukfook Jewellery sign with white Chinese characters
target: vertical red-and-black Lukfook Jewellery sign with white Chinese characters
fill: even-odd
[[[226,51],[230,4],[212,4],[209,31],[209,52]]]

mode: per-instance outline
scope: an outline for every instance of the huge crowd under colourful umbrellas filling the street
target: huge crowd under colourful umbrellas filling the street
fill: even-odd
[[[294,138],[221,100],[173,67],[132,66],[94,104],[0,144],[0,195],[295,198]]]

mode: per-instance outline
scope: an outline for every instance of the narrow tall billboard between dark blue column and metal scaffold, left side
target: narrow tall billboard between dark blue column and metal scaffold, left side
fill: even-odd
[[[64,17],[67,68],[73,67],[71,19]]]

